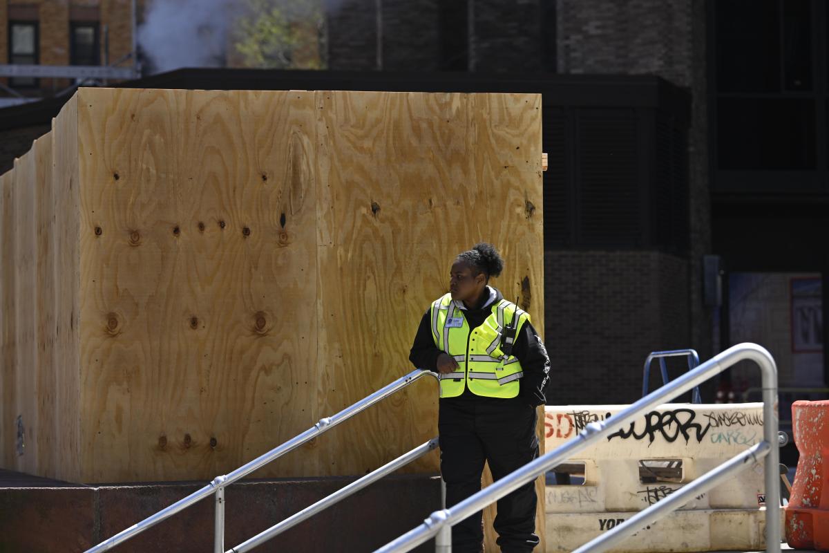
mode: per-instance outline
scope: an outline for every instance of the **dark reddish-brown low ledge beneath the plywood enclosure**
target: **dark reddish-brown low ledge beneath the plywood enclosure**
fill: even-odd
[[[225,491],[230,549],[356,477],[243,480]],[[85,486],[0,471],[0,551],[85,551],[204,482]],[[440,506],[439,478],[384,478],[284,532],[256,551],[374,551]],[[128,551],[213,551],[210,497],[117,547]],[[415,551],[431,553],[434,546]]]

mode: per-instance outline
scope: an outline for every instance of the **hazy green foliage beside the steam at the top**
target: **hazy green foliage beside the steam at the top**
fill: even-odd
[[[322,0],[240,0],[233,46],[246,67],[325,69]]]

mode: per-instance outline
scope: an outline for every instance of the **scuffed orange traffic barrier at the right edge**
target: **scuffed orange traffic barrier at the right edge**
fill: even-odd
[[[794,443],[800,453],[786,507],[786,541],[794,549],[829,551],[829,401],[792,404]]]

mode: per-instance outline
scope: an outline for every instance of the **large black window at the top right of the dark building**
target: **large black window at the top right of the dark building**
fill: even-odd
[[[815,63],[823,55],[813,28],[824,7],[812,0],[718,0],[710,9],[720,170],[715,186],[783,193],[815,186],[825,165],[818,147],[826,132],[826,75]],[[780,172],[812,176],[798,181]]]

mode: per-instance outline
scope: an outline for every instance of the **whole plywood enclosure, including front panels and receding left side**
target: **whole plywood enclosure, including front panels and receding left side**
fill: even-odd
[[[2,393],[22,402],[3,403],[4,464],[80,482],[230,471],[410,371],[422,313],[480,240],[542,331],[540,109],[80,90],[2,177],[0,245],[20,260],[0,280]],[[17,461],[24,404],[38,448]],[[366,473],[432,437],[436,411],[420,381],[257,476]]]

